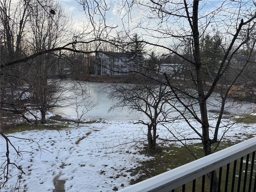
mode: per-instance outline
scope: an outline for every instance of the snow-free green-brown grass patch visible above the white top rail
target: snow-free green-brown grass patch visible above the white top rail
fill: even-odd
[[[234,145],[232,142],[220,143],[216,151],[232,145]],[[215,146],[213,145],[213,148]],[[196,158],[204,157],[202,143],[188,145],[188,149],[196,156]],[[132,180],[130,184],[135,184],[196,160],[188,149],[184,146],[177,146],[174,144],[167,146],[164,143],[160,144],[155,150],[148,150],[148,147],[145,147],[142,153],[146,156],[152,156],[154,159],[142,162],[142,166],[129,170],[129,172],[132,172],[132,176],[136,174],[141,175],[137,180]]]

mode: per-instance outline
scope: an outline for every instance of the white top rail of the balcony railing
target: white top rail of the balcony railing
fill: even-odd
[[[256,151],[256,137],[131,185],[120,191],[168,192],[254,151]]]

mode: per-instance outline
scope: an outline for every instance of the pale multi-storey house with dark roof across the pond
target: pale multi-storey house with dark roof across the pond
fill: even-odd
[[[97,76],[121,76],[143,70],[145,61],[143,57],[136,58],[133,52],[97,52],[95,65]]]

